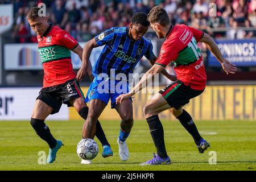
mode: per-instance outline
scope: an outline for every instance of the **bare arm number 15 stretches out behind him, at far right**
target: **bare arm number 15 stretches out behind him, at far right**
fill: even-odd
[[[229,75],[229,73],[236,73],[237,71],[236,65],[230,63],[230,61],[226,60],[223,57],[216,42],[213,40],[213,38],[209,34],[204,33],[204,36],[203,38],[201,38],[200,42],[205,43],[205,45],[210,50],[210,52],[212,52],[213,55],[217,58],[217,60],[221,63],[222,68],[224,69],[227,75]]]

